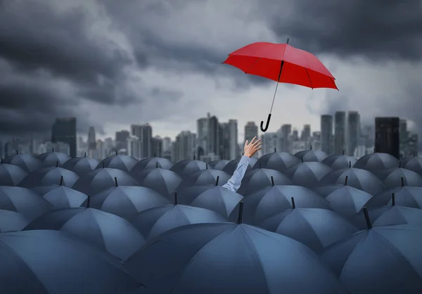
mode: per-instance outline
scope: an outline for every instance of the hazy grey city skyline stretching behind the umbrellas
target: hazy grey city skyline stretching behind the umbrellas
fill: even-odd
[[[1,158],[14,153],[41,154],[50,151],[67,153],[72,157],[89,156],[101,160],[115,153],[131,155],[136,159],[148,157],[168,158],[173,162],[197,158],[233,160],[241,155],[245,140],[254,136],[262,139],[262,150],[256,155],[277,152],[297,153],[312,148],[328,154],[345,154],[361,158],[384,152],[403,158],[418,155],[418,134],[409,132],[407,120],[399,117],[376,117],[373,125],[361,125],[356,111],[339,111],[335,115],[321,115],[319,131],[310,124],[302,129],[283,124],[277,132],[258,133],[255,122],[244,127],[244,138],[238,136],[237,120],[219,122],[218,117],[207,113],[196,122],[196,132],[181,131],[176,138],[153,134],[151,124],[132,124],[115,133],[115,137],[96,139],[96,130],[89,127],[88,136],[76,132],[76,117],[58,117],[51,127],[51,139],[9,139],[0,141]]]

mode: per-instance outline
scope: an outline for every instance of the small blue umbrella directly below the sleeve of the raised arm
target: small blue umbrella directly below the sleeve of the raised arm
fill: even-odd
[[[229,191],[221,186],[211,186],[198,195],[196,193],[189,195],[184,193],[183,190],[178,194],[180,195],[178,197],[180,204],[212,210],[223,217],[229,217],[236,205],[243,199],[241,194]]]

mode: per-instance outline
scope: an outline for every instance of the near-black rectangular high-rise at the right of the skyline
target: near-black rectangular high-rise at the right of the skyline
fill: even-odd
[[[375,118],[375,151],[388,153],[395,158],[400,155],[399,117]]]

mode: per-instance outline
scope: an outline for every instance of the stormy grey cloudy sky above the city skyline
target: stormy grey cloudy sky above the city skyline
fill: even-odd
[[[247,121],[267,119],[275,82],[221,63],[288,37],[340,91],[280,84],[269,132],[319,130],[319,115],[337,110],[422,129],[420,0],[0,0],[0,136],[76,116],[81,134],[149,122],[174,137],[210,112],[237,119],[241,141]]]

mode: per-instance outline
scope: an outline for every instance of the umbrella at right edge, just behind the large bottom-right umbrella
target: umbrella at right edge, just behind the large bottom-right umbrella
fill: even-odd
[[[394,226],[411,224],[422,226],[422,210],[420,208],[395,205],[395,194],[392,194],[392,205],[385,205],[368,211],[373,226]],[[350,219],[359,229],[366,229],[363,212]]]

